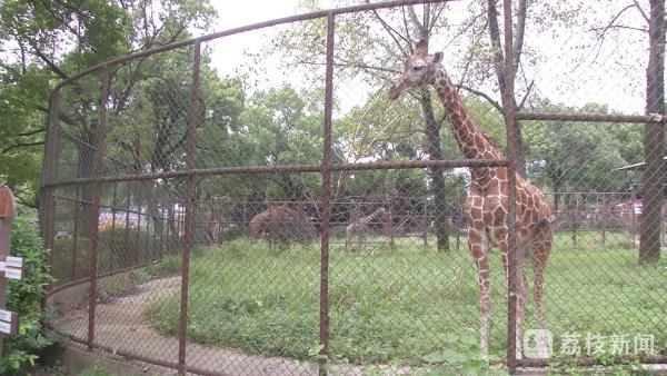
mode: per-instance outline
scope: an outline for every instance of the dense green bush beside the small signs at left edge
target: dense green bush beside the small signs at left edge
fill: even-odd
[[[41,300],[47,286],[53,280],[47,265],[44,249],[38,229],[17,219],[12,226],[11,255],[23,257],[26,274],[21,280],[7,284],[7,309],[19,314],[19,334],[7,336],[0,362],[0,374],[23,374],[33,365],[40,349],[50,346],[53,338],[41,330]]]

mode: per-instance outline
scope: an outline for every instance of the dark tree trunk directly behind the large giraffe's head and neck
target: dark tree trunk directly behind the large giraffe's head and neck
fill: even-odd
[[[421,111],[424,112],[424,119],[426,120],[427,150],[430,159],[442,159],[442,149],[440,148],[440,125],[436,121],[430,92],[427,89],[421,90],[419,102],[421,105]],[[445,176],[442,175],[442,169],[438,167],[432,167],[430,169],[430,175],[436,211],[435,224],[438,250],[449,250],[449,227],[447,226],[447,217],[451,212],[451,208],[447,205]]]

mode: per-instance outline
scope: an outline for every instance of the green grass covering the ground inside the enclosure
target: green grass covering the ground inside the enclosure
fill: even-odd
[[[421,364],[434,352],[460,350],[469,338],[479,338],[477,273],[465,244],[458,251],[436,253],[424,251],[416,238],[404,240],[396,253],[382,244],[346,254],[342,244],[332,244],[334,358]],[[587,333],[628,335],[630,352],[635,335],[653,334],[656,349],[664,352],[665,265],[638,266],[637,250],[620,234],[607,234],[603,245],[598,234],[580,232],[578,244],[573,249],[569,234],[558,234],[547,267],[544,301],[556,354],[567,334],[578,334],[585,352]],[[278,249],[238,239],[199,253],[190,264],[189,339],[308,358],[318,343],[319,263],[319,244]],[[491,353],[502,357],[507,305],[497,251],[491,276]],[[179,307],[178,295],[167,297],[148,317],[160,333],[176,335]],[[530,299],[526,328],[536,327]]]

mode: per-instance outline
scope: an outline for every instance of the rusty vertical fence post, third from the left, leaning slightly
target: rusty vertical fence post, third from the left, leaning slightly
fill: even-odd
[[[188,283],[190,269],[190,247],[192,244],[192,201],[195,197],[195,142],[197,131],[197,103],[199,100],[199,66],[201,63],[201,42],[195,44],[195,61],[192,66],[192,87],[190,90],[190,108],[188,111],[188,180],[186,188],[186,218],[183,234],[183,253],[181,265],[181,306],[178,328],[178,369],[186,373],[186,339],[188,335]]]

